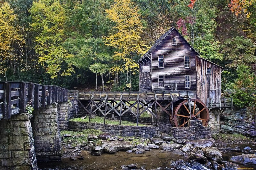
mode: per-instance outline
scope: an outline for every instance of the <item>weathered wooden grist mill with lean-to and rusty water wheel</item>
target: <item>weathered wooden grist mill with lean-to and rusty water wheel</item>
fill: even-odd
[[[170,123],[184,127],[197,117],[213,133],[220,132],[220,113],[232,106],[221,98],[223,67],[202,57],[172,27],[139,59],[140,91],[188,91],[193,97],[173,99]],[[198,110],[199,109],[199,110]],[[198,113],[199,112],[199,113]]]

